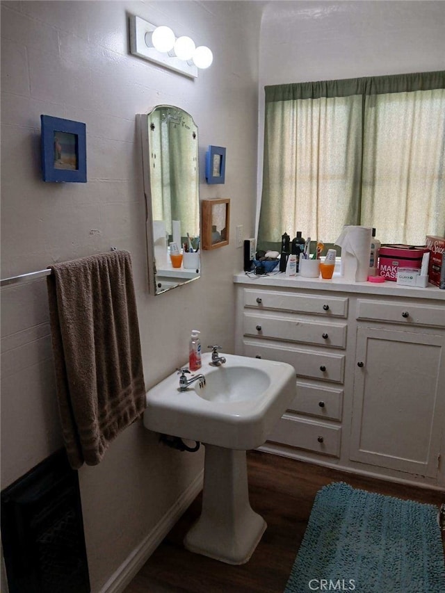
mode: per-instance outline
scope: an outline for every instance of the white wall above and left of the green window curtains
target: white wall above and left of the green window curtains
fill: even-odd
[[[445,2],[271,1],[259,51],[258,200],[264,86],[445,69]]]

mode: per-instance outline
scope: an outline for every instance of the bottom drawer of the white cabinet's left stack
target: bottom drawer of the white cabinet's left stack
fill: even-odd
[[[284,414],[275,425],[268,441],[339,457],[341,427]]]

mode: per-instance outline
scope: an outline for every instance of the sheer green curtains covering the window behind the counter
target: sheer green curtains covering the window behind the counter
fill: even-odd
[[[343,225],[423,244],[445,227],[445,72],[267,86],[258,245]]]

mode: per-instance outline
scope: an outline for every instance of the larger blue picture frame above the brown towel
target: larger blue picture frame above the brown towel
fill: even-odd
[[[40,123],[43,181],[86,184],[86,125],[51,115]]]

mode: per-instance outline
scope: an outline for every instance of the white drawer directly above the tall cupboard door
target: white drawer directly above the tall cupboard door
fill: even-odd
[[[445,303],[412,304],[407,301],[378,302],[373,300],[357,300],[357,319],[388,321],[415,325],[431,325],[445,327]]]

